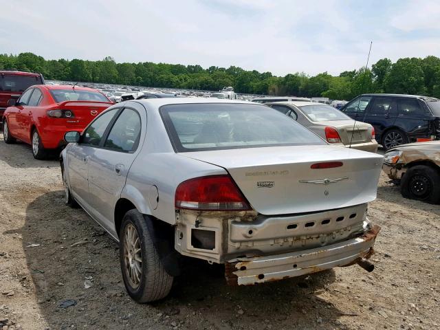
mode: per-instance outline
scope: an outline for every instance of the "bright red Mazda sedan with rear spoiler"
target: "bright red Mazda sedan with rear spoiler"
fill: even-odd
[[[10,144],[32,144],[36,159],[65,145],[67,131],[83,131],[113,102],[96,89],[72,86],[34,85],[19,100],[9,100],[3,115],[3,137]]]

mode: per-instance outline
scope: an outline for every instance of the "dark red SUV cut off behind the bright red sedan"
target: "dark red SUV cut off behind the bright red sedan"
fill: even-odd
[[[17,100],[32,85],[44,85],[42,74],[17,70],[0,70],[0,122],[10,99]]]

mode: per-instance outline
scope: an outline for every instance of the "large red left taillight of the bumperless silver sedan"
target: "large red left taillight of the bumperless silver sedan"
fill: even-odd
[[[189,210],[250,210],[239,188],[229,175],[189,179],[177,186],[175,207]]]

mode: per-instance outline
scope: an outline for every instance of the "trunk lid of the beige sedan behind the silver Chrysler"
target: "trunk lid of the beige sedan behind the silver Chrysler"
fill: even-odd
[[[353,120],[331,120],[319,122],[320,126],[334,127],[341,138],[343,144],[357,144],[371,142],[371,130],[373,126],[366,122],[353,122]],[[352,136],[353,135],[353,139]]]

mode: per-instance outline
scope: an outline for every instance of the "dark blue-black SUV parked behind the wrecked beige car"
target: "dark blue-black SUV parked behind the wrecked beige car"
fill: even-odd
[[[440,100],[428,96],[362,94],[340,111],[372,124],[385,150],[410,142],[438,140]]]

